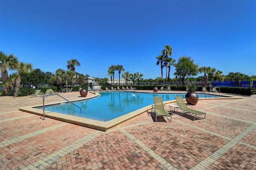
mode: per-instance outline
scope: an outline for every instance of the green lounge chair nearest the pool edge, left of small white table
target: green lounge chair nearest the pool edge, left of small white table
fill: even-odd
[[[156,115],[156,119],[157,119],[158,116],[165,117],[167,119],[168,119],[168,117],[171,117],[171,119],[168,119],[168,121],[169,122],[172,121],[172,114],[170,115],[167,112],[167,108],[163,104],[163,98],[162,97],[154,97],[154,105],[152,105],[151,112],[152,111],[153,111],[154,115]]]

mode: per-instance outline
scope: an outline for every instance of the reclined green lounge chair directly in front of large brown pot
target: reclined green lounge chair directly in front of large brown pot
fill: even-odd
[[[194,116],[194,120],[196,119],[196,117],[198,117],[198,115],[204,115],[204,118],[206,117],[206,112],[202,112],[202,111],[195,110],[195,109],[192,108],[192,105],[190,105],[190,106],[191,106],[191,109],[188,108],[188,107],[187,107],[188,104],[186,104],[186,103],[184,102],[184,100],[182,99],[181,96],[175,96],[175,99],[176,99],[176,101],[177,101],[177,103],[178,103],[178,105],[179,105],[179,109],[182,110],[184,117],[185,117],[184,114],[186,114],[186,113],[192,114],[192,115]],[[198,117],[198,118],[204,119],[204,118],[202,118],[202,117]]]

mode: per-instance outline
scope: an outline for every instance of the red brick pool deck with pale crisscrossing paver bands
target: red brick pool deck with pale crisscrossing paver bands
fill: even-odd
[[[235,97],[199,100],[193,109],[207,112],[202,120],[154,122],[144,112],[106,132],[18,109],[42,105],[42,97],[0,97],[0,169],[256,169],[256,95]]]

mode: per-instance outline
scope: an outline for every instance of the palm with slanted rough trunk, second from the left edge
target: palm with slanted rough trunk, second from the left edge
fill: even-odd
[[[33,65],[32,65],[32,63],[20,62],[20,63],[18,63],[18,65],[16,67],[16,71],[17,71],[17,73],[16,73],[13,97],[18,96],[18,91],[20,89],[21,73],[29,73],[29,72],[33,71]]]

